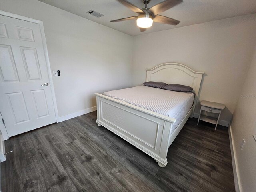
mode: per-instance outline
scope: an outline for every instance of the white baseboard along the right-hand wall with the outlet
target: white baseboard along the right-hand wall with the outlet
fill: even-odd
[[[241,182],[240,182],[240,178],[239,178],[238,164],[237,164],[237,160],[236,160],[236,151],[234,150],[234,144],[233,144],[232,128],[231,128],[230,124],[228,126],[228,135],[229,135],[230,150],[231,150],[231,157],[232,157],[235,188],[236,188],[236,192],[242,192],[242,189],[240,188]]]

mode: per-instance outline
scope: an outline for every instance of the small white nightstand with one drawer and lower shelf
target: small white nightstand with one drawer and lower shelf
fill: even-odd
[[[200,110],[200,114],[199,114],[199,117],[198,117],[197,124],[199,123],[199,120],[206,121],[208,123],[216,124],[215,129],[214,129],[214,131],[215,131],[216,128],[217,128],[219,119],[220,119],[221,111],[224,108],[225,108],[225,105],[221,104],[221,103],[214,103],[214,102],[210,102],[210,101],[202,101],[201,102],[201,110]],[[219,116],[218,116],[218,118],[214,118],[214,117],[210,117],[210,116],[206,116],[206,115],[201,115],[202,110],[207,111],[207,112],[211,112],[211,113],[217,113],[217,114],[219,114]]]

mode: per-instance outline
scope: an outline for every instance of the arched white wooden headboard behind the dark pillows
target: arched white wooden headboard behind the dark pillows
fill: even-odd
[[[165,82],[167,84],[175,83],[192,87],[196,93],[194,100],[195,109],[204,72],[196,72],[179,63],[164,63],[146,71],[146,81]],[[192,115],[194,114],[194,109]]]

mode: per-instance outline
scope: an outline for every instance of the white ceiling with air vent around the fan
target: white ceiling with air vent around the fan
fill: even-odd
[[[40,1],[132,36],[256,13],[256,0],[184,0],[183,3],[161,14],[180,20],[180,24],[171,26],[154,22],[151,28],[147,29],[145,32],[140,32],[139,28],[136,26],[136,20],[110,22],[110,20],[137,15],[116,0]],[[141,0],[129,0],[129,2],[139,8],[144,7]],[[162,2],[162,0],[152,0],[148,4],[148,8],[159,2]],[[104,16],[96,18],[86,13],[91,9]]]

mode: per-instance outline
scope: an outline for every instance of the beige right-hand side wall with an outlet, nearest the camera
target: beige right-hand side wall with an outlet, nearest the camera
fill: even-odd
[[[256,47],[231,123],[241,192],[256,190]],[[245,139],[243,150],[240,144]]]

